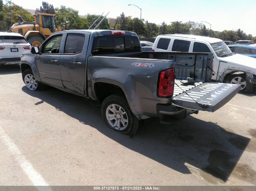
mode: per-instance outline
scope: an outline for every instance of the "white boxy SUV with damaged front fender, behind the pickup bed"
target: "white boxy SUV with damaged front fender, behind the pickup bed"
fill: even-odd
[[[232,53],[221,39],[190,34],[159,35],[152,51],[213,53],[212,81],[241,84],[241,91],[255,92],[256,59]]]

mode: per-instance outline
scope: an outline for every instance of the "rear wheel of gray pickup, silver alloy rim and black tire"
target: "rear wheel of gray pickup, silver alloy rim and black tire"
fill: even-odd
[[[110,129],[125,135],[131,133],[134,118],[124,97],[118,94],[108,96],[101,105],[101,115]]]

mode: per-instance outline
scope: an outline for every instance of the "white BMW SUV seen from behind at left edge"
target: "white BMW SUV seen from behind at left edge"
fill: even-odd
[[[0,65],[19,64],[22,53],[30,49],[22,35],[0,32]]]

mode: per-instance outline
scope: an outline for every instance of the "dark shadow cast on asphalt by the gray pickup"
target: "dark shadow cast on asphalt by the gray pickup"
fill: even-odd
[[[100,106],[92,106],[83,97],[55,88],[30,91],[24,86],[22,90],[42,100],[35,105],[46,102],[126,148],[184,174],[190,174],[190,169],[196,167],[202,177],[210,174],[220,182],[226,182],[250,142],[247,137],[228,132],[216,123],[196,119],[193,115],[171,126],[162,126],[156,119],[146,119],[145,127],[141,126],[131,139],[107,128]]]

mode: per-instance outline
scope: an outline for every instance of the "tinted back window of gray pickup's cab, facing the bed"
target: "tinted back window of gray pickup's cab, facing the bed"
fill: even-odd
[[[141,45],[137,36],[96,36],[91,54],[122,53],[140,51]]]

